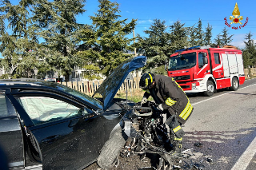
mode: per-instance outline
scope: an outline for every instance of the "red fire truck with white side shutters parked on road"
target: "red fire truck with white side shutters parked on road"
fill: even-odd
[[[179,49],[170,55],[167,72],[185,93],[203,92],[206,96],[216,89],[237,90],[245,81],[242,51],[235,48]]]

